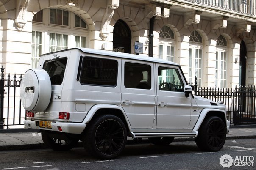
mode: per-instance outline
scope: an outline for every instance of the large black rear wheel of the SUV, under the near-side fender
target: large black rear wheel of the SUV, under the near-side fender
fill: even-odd
[[[113,159],[125,148],[125,124],[115,115],[102,115],[92,120],[84,135],[84,148],[100,159]]]

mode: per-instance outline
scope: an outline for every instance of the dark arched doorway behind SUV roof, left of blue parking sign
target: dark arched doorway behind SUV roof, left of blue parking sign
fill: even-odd
[[[113,51],[131,53],[131,31],[120,19],[114,25]]]

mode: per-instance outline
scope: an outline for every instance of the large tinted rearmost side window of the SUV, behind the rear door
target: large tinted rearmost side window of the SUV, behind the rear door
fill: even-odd
[[[80,82],[85,85],[116,86],[117,60],[84,57],[81,67]]]

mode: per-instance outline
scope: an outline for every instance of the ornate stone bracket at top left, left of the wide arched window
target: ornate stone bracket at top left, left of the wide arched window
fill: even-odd
[[[15,27],[18,31],[22,31],[27,20],[25,14],[27,12],[29,0],[17,0],[16,1],[16,19]]]

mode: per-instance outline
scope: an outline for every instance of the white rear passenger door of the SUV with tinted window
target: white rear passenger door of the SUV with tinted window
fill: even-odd
[[[122,59],[122,107],[131,128],[152,128],[156,109],[153,63]]]

